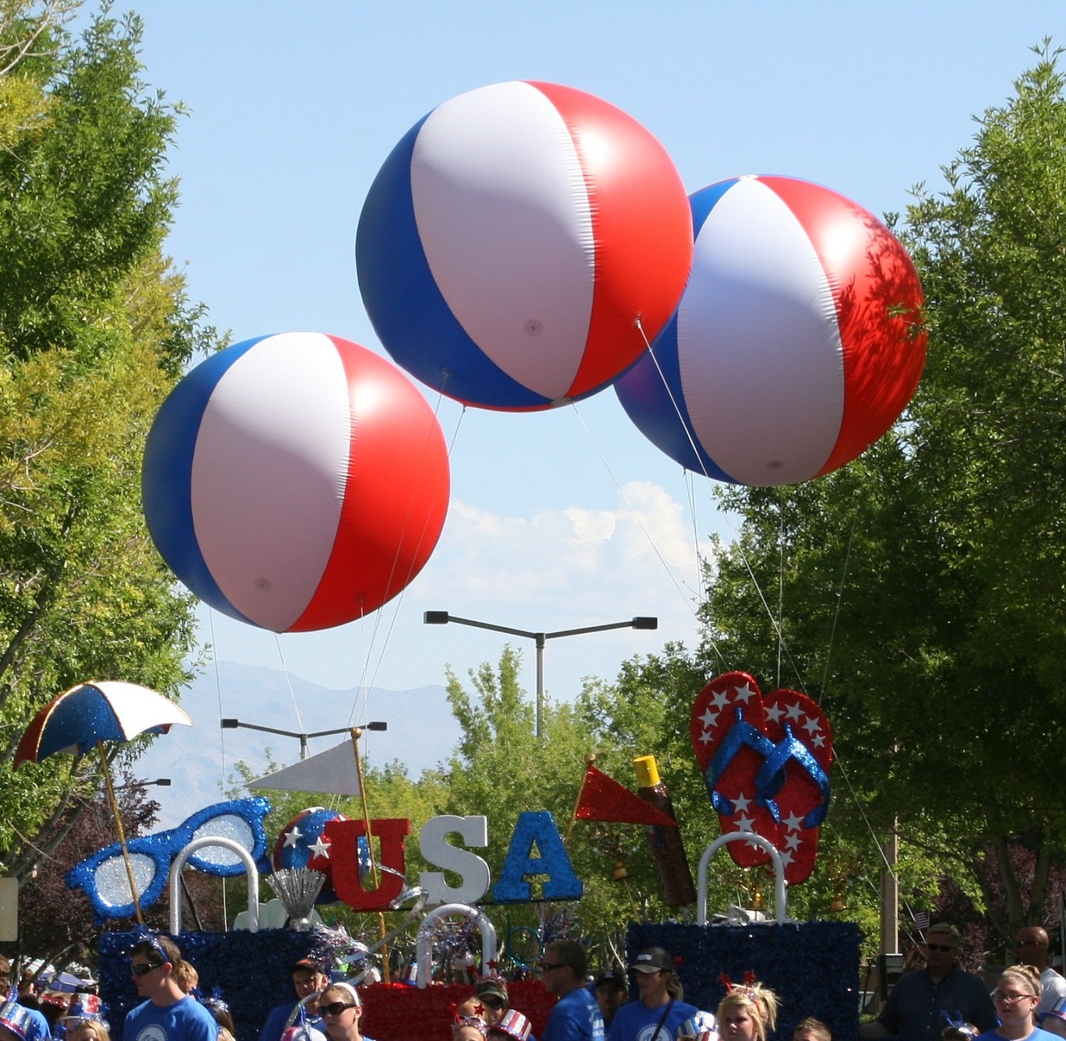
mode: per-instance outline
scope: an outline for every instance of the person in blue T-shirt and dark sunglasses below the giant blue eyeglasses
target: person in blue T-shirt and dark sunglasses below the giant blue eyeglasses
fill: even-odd
[[[126,1013],[125,1041],[216,1041],[214,1016],[174,978],[180,964],[181,951],[169,936],[152,936],[133,945],[130,975],[145,1000]]]

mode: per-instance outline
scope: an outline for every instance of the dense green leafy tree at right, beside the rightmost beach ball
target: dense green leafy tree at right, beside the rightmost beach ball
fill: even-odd
[[[990,850],[1003,936],[1041,918],[1066,828],[1064,82],[1045,45],[944,169],[946,191],[917,191],[902,234],[928,362],[902,421],[825,478],[722,495],[744,523],[698,655],[822,701],[840,759],[830,822],[847,842],[899,819],[905,858],[932,858],[979,901]],[[770,603],[780,584],[779,618],[756,581]],[[1028,894],[1010,856],[1021,840],[1036,853]]]

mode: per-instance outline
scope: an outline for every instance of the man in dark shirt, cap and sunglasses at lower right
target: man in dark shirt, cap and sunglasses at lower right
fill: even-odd
[[[954,926],[931,926],[922,945],[925,967],[900,978],[876,1021],[859,1028],[861,1037],[867,1041],[891,1037],[939,1041],[944,1024],[952,1020],[991,1030],[997,1023],[992,999],[980,976],[964,973],[955,964],[958,944]]]

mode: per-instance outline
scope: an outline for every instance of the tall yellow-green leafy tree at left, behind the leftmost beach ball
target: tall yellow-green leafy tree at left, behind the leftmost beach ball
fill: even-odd
[[[0,753],[90,678],[176,693],[191,598],[148,538],[140,461],[156,410],[215,345],[161,245],[179,109],[140,80],[141,26],[76,39],[56,4],[0,4]],[[22,43],[32,37],[32,46]],[[21,49],[20,49],[21,48]],[[17,64],[12,60],[18,58]],[[90,796],[93,762],[0,772],[0,850],[27,878]]]

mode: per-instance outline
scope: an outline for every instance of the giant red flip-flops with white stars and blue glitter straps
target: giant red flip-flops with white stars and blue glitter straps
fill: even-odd
[[[752,831],[781,854],[786,880],[810,876],[819,826],[829,808],[833,731],[806,694],[774,690],[763,696],[746,672],[712,679],[692,707],[692,744],[723,833]],[[770,855],[731,843],[741,867]]]

